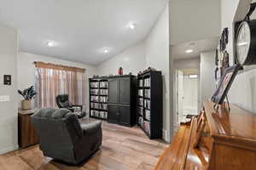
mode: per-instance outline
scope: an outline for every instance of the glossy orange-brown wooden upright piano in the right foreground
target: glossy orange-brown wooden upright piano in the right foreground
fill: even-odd
[[[204,109],[183,123],[155,170],[256,169],[256,115],[236,105]]]

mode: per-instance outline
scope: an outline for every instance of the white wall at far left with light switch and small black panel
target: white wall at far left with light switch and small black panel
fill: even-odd
[[[18,103],[17,103],[17,32],[0,26],[0,95],[9,95],[10,100],[0,102],[0,154],[18,148]],[[10,86],[3,85],[3,75],[12,76]]]

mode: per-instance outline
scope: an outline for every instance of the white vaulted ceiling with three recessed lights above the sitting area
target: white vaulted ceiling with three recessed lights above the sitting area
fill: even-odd
[[[98,65],[142,41],[165,4],[166,0],[0,0],[0,24],[18,30],[22,52]],[[134,30],[127,28],[131,23]],[[55,47],[49,48],[49,41]]]

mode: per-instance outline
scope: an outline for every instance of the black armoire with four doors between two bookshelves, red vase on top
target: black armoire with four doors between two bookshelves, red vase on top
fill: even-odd
[[[108,77],[108,122],[127,127],[136,124],[136,77]]]

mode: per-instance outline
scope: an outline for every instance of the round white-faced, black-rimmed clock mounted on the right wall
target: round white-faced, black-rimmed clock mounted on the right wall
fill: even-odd
[[[251,14],[255,10],[256,3],[251,4],[251,8],[243,21],[236,25],[236,63],[240,65],[256,64],[256,20],[250,20]]]

